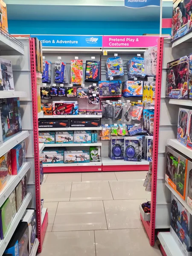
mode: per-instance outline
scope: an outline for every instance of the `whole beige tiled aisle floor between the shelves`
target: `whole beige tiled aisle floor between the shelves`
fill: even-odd
[[[150,200],[147,172],[45,175],[41,198],[49,224],[41,256],[160,256],[140,220]]]

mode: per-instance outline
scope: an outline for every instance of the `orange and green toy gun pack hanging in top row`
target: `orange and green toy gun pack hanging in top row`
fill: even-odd
[[[83,84],[83,61],[71,60],[71,83]]]

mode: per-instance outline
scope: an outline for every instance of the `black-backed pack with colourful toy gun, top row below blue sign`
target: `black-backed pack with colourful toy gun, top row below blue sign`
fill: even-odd
[[[100,61],[86,61],[84,81],[98,82],[100,77]]]

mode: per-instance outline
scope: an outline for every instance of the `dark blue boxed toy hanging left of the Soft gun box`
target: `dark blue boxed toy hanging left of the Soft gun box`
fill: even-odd
[[[117,81],[99,81],[99,97],[121,97],[122,82]]]

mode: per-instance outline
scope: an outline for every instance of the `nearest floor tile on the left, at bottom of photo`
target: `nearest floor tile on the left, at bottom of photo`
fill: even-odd
[[[94,231],[47,232],[39,256],[95,256]]]

